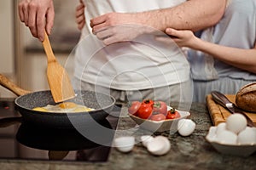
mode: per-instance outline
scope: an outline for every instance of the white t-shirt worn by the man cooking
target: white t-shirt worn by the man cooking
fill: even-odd
[[[104,46],[91,33],[90,20],[109,12],[170,8],[184,0],[84,0],[86,26],[76,48],[75,77],[119,90],[159,88],[189,80],[189,62],[173,43],[144,35],[132,42]],[[170,16],[171,17],[171,16]]]

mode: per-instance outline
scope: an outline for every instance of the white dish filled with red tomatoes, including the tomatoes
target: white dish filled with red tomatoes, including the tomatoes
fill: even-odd
[[[152,99],[131,102],[128,112],[137,125],[151,132],[177,132],[177,122],[190,116],[188,111],[178,111],[163,101]]]

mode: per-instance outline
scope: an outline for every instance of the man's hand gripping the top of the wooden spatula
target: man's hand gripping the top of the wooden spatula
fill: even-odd
[[[44,29],[50,34],[54,24],[54,5],[52,0],[20,0],[20,20],[29,27],[33,37],[44,41]]]

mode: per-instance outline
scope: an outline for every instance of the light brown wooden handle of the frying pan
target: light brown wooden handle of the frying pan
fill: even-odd
[[[0,74],[0,84],[4,88],[9,89],[10,91],[12,91],[14,94],[18,96],[31,93],[30,91],[26,91],[18,87],[14,82],[11,82],[9,78],[4,77],[2,74]]]

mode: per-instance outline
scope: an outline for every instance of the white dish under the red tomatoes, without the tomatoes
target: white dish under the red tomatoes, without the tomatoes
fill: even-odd
[[[168,106],[168,111],[171,109],[170,106]],[[190,113],[188,111],[178,111],[180,114],[180,117],[177,119],[168,119],[163,121],[152,121],[148,119],[142,119],[138,116],[133,116],[129,114],[131,119],[137,123],[140,127],[147,129],[151,132],[177,132],[177,122],[181,119],[185,119],[188,116],[190,116]]]

